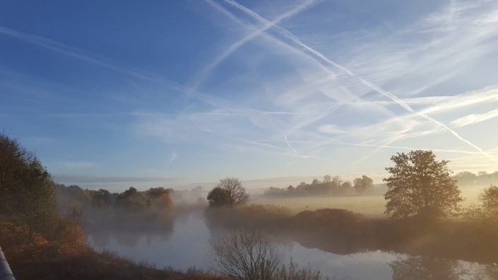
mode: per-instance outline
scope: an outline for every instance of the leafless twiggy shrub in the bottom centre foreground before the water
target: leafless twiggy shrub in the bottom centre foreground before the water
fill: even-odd
[[[278,272],[282,254],[261,233],[237,229],[211,242],[215,272],[231,279],[270,280]]]

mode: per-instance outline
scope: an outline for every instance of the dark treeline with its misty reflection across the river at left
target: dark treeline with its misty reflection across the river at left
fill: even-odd
[[[151,187],[144,191],[129,187],[117,193],[107,189],[83,189],[77,185],[61,184],[56,184],[55,194],[59,214],[78,218],[90,228],[131,224],[141,228],[170,227],[174,211],[186,207],[182,204],[184,196],[202,196],[201,187],[179,193],[165,187]],[[174,204],[175,200],[179,202],[177,205]],[[206,200],[198,199],[195,205],[205,206]]]

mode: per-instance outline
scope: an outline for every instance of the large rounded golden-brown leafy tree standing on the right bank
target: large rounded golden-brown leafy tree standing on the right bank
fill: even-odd
[[[463,201],[456,181],[450,177],[448,161],[436,161],[432,151],[410,151],[391,157],[386,168],[388,191],[386,214],[393,218],[441,218],[458,210]]]

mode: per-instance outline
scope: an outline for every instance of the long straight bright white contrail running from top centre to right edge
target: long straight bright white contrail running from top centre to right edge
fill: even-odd
[[[235,2],[233,0],[225,0],[225,1],[227,3],[229,3],[229,4],[231,4],[232,6],[235,6],[235,8],[238,8],[239,10],[244,11],[245,13],[249,14],[249,16],[253,17],[257,21],[260,21],[261,23],[266,23],[267,25],[271,24],[271,22],[269,22],[266,18],[263,18],[263,17],[259,16],[258,13],[255,13],[254,11],[252,11],[251,9],[249,9],[247,7],[242,6],[242,5],[238,4],[237,2]],[[328,57],[326,57],[321,52],[319,52],[316,49],[314,49],[312,47],[309,47],[308,45],[304,44],[304,42],[302,42],[294,34],[290,33],[290,31],[288,31],[287,29],[282,28],[282,27],[280,27],[280,26],[278,26],[276,24],[273,24],[272,26],[273,26],[273,28],[275,28],[275,30],[278,31],[278,33],[280,33],[281,35],[287,37],[292,42],[295,42],[295,44],[300,45],[304,49],[307,49],[309,52],[311,52],[312,54],[316,55],[317,57],[323,59],[328,64],[331,64],[331,65],[335,66],[336,68],[344,71],[346,74],[348,74],[352,78],[357,78],[357,80],[360,81],[361,83],[363,83],[365,86],[371,88],[372,90],[376,91],[377,93],[380,93],[381,95],[384,95],[387,98],[389,98],[389,99],[393,100],[394,102],[398,103],[398,105],[400,105],[401,107],[405,108],[405,110],[407,110],[408,112],[415,113],[417,115],[420,115],[420,117],[423,117],[423,118],[429,120],[430,122],[433,122],[434,124],[438,124],[439,126],[443,127],[447,132],[450,132],[451,134],[453,134],[453,136],[456,136],[456,138],[458,138],[459,140],[463,141],[464,143],[466,143],[466,144],[472,146],[473,148],[475,148],[476,150],[478,150],[480,153],[482,153],[484,156],[486,156],[487,158],[489,158],[491,161],[494,161],[494,162],[498,163],[498,160],[496,160],[496,159],[492,158],[491,156],[489,156],[487,153],[485,153],[485,151],[482,150],[482,148],[476,146],[475,144],[473,144],[472,142],[468,141],[467,139],[464,139],[462,136],[460,136],[460,134],[458,134],[457,132],[455,132],[453,129],[447,127],[445,124],[437,121],[436,119],[434,119],[432,117],[429,117],[428,115],[424,115],[424,114],[415,112],[415,110],[413,110],[413,108],[410,107],[410,105],[406,104],[403,100],[401,100],[400,98],[398,98],[396,95],[393,95],[392,93],[389,93],[389,91],[385,91],[384,89],[380,88],[379,86],[375,85],[374,83],[371,83],[371,82],[367,81],[366,79],[362,78],[361,76],[358,76],[358,75],[354,74],[352,71],[350,71],[349,69],[345,68],[344,66],[342,66],[342,65],[340,65],[340,64],[338,64],[336,62],[333,62],[331,59],[328,59]]]

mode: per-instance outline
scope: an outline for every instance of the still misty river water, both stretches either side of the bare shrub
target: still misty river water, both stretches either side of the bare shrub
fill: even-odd
[[[154,231],[133,229],[87,229],[87,242],[96,250],[111,250],[137,262],[156,267],[210,269],[208,228],[202,211],[182,214],[170,228]],[[497,268],[444,259],[410,257],[394,252],[369,251],[350,255],[303,247],[292,240],[279,241],[285,257],[300,265],[311,265],[322,274],[338,279],[496,279]]]

